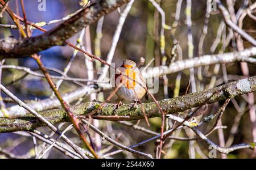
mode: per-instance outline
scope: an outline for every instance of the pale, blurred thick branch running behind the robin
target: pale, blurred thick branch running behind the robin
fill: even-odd
[[[159,67],[154,67],[151,70],[150,69],[148,69],[147,71],[144,70],[142,71],[142,75],[146,79],[146,78],[154,78],[164,74],[176,73],[178,71],[189,69],[191,67],[207,66],[207,65],[213,65],[216,63],[229,63],[229,62],[235,62],[235,61],[249,61],[249,60],[251,62],[256,63],[256,59],[250,57],[255,55],[256,55],[256,47],[245,49],[241,52],[205,55],[205,56],[196,57],[193,59],[176,61],[172,63],[170,66],[159,66]],[[5,66],[3,66],[3,69],[4,68]],[[111,88],[110,84],[105,84],[105,83],[101,83],[100,86],[106,89]],[[79,99],[82,96],[89,95],[92,92],[98,92],[100,90],[101,88],[98,88],[98,86],[94,86],[92,84],[92,85],[80,87],[75,91],[64,94],[63,99],[69,103],[72,103],[73,101]],[[34,109],[36,112],[41,112],[41,111],[46,111],[48,109],[59,107],[60,103],[59,103],[59,100],[55,98],[55,99],[44,99],[40,101],[35,101],[33,103],[29,103],[28,105],[32,109]],[[27,113],[26,109],[19,107],[19,105],[14,105],[10,108],[7,108],[7,110],[11,117],[24,116]],[[0,111],[0,117],[5,117],[3,116],[1,111]]]

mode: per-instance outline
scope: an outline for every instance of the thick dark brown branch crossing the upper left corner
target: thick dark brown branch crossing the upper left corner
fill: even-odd
[[[0,59],[30,56],[54,45],[64,45],[65,40],[74,36],[82,28],[127,2],[129,0],[96,1],[88,8],[84,8],[70,19],[42,35],[22,40],[17,40],[13,37],[1,39]]]

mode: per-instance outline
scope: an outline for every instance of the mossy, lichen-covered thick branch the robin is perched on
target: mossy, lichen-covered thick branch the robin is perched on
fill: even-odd
[[[163,111],[170,114],[199,107],[205,103],[210,104],[216,101],[230,99],[253,91],[256,91],[256,76],[214,87],[210,90],[195,92],[172,99],[161,100],[159,101],[159,104],[163,108]],[[98,102],[86,102],[71,107],[71,110],[77,116],[86,116],[88,113],[99,108],[100,105],[101,103]],[[145,108],[148,118],[161,116],[159,109],[154,102],[144,103],[143,107]],[[104,107],[98,110],[97,114],[94,114],[92,117],[103,120],[139,120],[144,118],[144,114],[142,112],[143,107],[138,105],[138,107],[131,109],[131,105],[122,105],[115,110],[114,104],[106,104]],[[63,109],[52,109],[41,112],[40,114],[52,124],[69,120]],[[28,114],[26,117],[15,119],[0,118],[0,133],[19,130],[32,130],[40,126],[44,126],[44,124],[42,124],[42,122],[37,120],[35,117],[32,117],[31,114]]]

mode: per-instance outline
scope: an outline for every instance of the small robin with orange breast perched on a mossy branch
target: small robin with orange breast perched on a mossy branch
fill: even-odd
[[[119,97],[117,107],[122,104],[123,99],[134,101],[134,105],[143,96],[148,100],[147,91],[145,90],[145,88],[147,89],[146,82],[134,61],[130,59],[123,60],[123,64],[117,70],[117,74],[115,74],[115,87],[118,87],[116,94]]]

